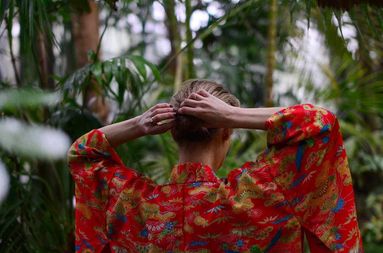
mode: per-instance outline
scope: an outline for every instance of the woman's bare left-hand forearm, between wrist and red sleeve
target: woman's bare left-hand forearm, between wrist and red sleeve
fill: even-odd
[[[146,135],[139,127],[139,117],[101,127],[98,130],[105,135],[113,148]]]

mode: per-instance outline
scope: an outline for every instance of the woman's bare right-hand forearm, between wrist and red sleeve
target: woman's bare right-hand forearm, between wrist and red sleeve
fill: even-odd
[[[235,107],[231,116],[231,128],[266,130],[266,120],[285,107],[240,108]]]

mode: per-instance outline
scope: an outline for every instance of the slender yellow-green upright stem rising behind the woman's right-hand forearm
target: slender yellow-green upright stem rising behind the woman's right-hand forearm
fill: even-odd
[[[268,14],[268,50],[267,50],[267,73],[265,87],[265,106],[273,107],[273,71],[275,68],[275,38],[277,37],[277,0],[270,0]]]

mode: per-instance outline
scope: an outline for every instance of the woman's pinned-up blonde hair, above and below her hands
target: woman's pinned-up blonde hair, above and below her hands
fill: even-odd
[[[170,98],[170,104],[178,110],[180,109],[181,103],[187,99],[191,93],[197,92],[200,89],[205,89],[205,91],[229,105],[236,107],[240,105],[239,100],[231,95],[228,89],[213,80],[207,79],[190,79],[182,83],[181,88]],[[175,121],[177,125],[171,129],[171,133],[173,139],[178,144],[183,141],[210,141],[214,133],[218,130],[218,128],[203,127],[203,121],[201,119],[190,115],[178,115]]]

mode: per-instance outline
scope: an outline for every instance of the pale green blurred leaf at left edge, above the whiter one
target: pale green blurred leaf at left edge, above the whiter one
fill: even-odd
[[[25,106],[52,105],[58,102],[57,92],[36,89],[6,89],[0,91],[0,109]]]

